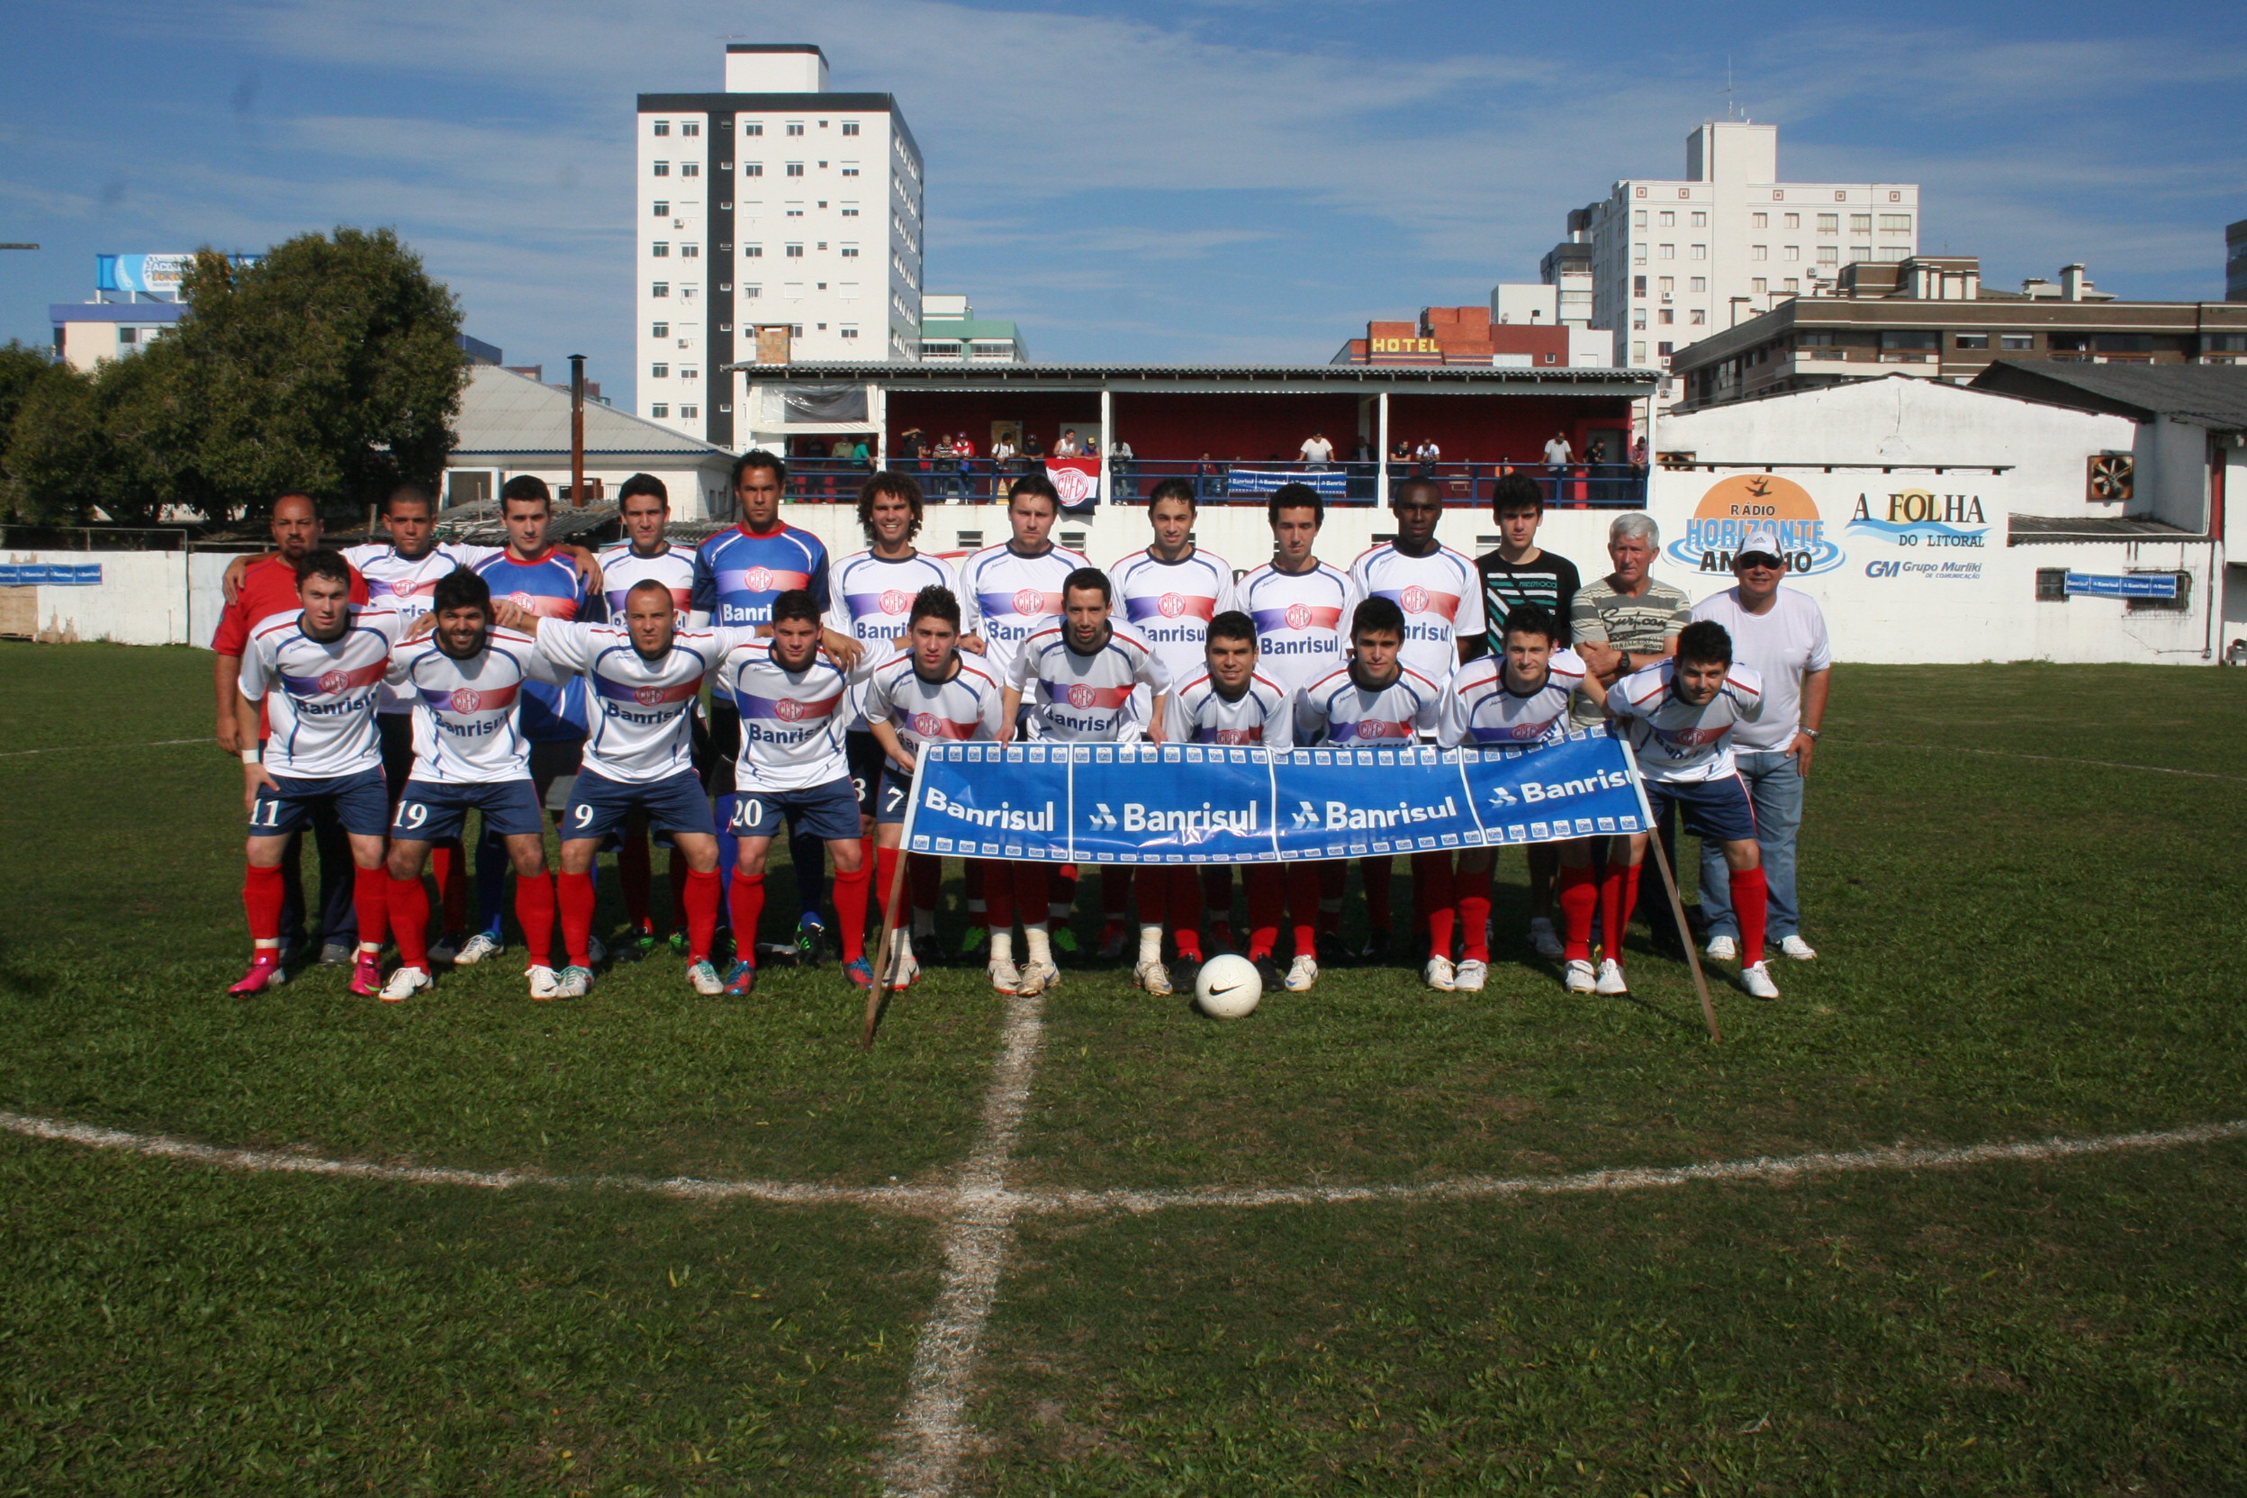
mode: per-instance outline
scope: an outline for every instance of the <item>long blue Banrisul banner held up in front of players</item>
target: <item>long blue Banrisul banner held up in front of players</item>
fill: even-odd
[[[1052,862],[1270,862],[1555,842],[1647,826],[1607,732],[1541,748],[946,743],[906,847]]]

